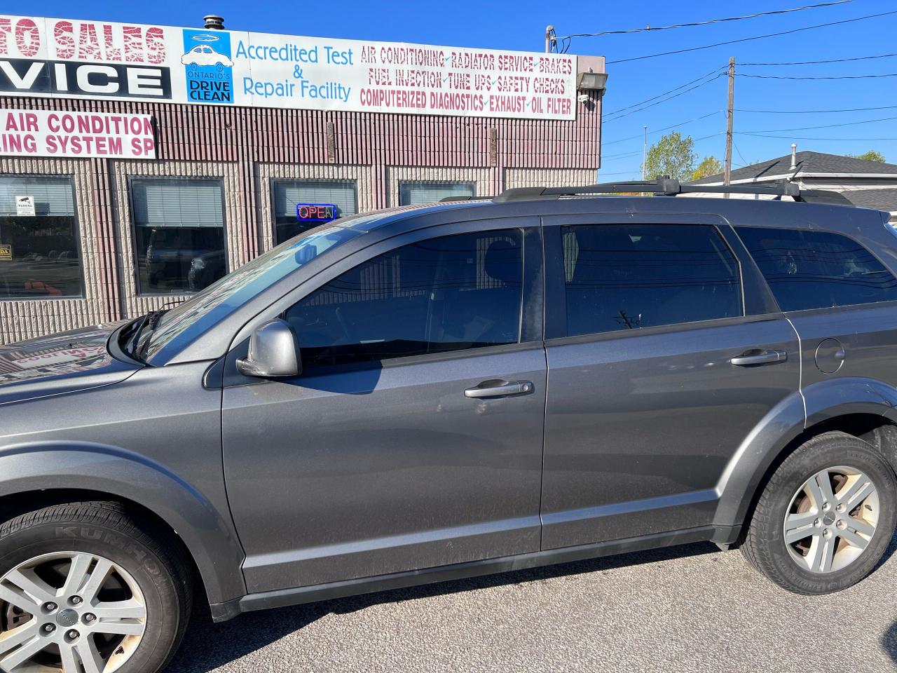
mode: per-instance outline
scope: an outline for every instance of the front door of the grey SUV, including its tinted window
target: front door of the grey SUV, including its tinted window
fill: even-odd
[[[290,323],[302,374],[223,391],[248,590],[537,551],[538,219],[405,234],[346,266],[263,316]]]

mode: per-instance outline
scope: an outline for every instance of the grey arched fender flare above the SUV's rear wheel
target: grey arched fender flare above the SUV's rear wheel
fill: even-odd
[[[740,528],[763,476],[807,428],[850,414],[882,415],[897,423],[897,389],[867,378],[829,379],[795,392],[771,408],[738,447],[717,484],[714,524]]]

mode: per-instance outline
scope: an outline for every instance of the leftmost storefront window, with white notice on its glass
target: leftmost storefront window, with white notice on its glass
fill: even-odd
[[[72,180],[0,176],[0,299],[81,295]]]

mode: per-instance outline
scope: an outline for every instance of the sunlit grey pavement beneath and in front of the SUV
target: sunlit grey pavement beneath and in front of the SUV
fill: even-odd
[[[821,598],[692,545],[197,620],[169,670],[894,671],[895,549]]]

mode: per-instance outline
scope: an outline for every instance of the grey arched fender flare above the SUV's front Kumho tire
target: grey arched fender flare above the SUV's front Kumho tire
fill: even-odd
[[[0,497],[71,489],[131,501],[164,520],[193,556],[210,603],[246,593],[243,551],[222,513],[170,469],[133,451],[87,442],[0,449]]]

